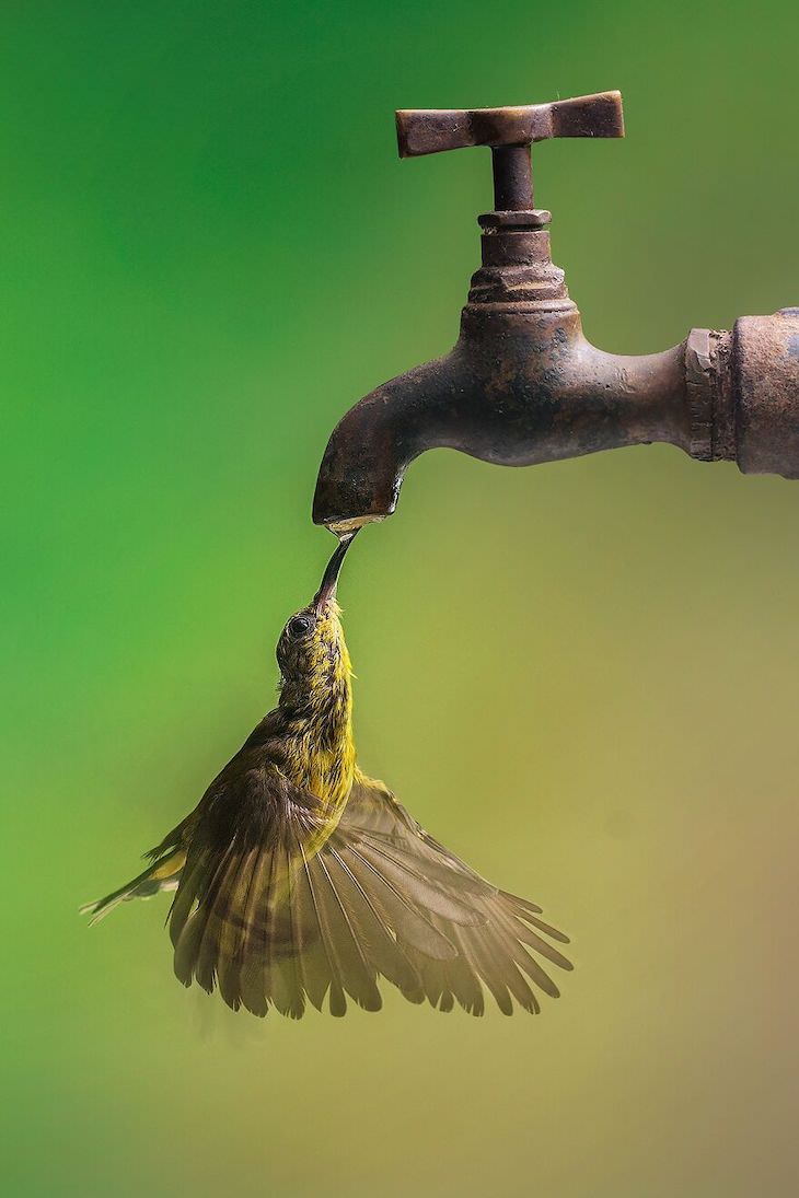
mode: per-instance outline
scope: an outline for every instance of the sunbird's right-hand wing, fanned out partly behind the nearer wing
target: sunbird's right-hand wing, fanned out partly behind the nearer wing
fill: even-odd
[[[345,859],[355,855],[377,860],[383,870],[401,876],[408,901],[453,945],[454,954],[430,957],[399,933],[399,942],[434,1006],[450,1010],[458,1002],[479,1015],[484,1009],[483,986],[507,1015],[514,999],[526,1010],[538,1011],[535,987],[558,996],[539,958],[571,969],[570,962],[550,943],[568,944],[568,937],[539,918],[540,907],[492,887],[434,840],[382,782],[363,775],[356,780],[341,822],[331,837],[329,852],[339,849],[341,842]],[[430,904],[431,888],[436,890],[437,906]],[[478,918],[470,922],[448,918],[441,895],[464,903]]]

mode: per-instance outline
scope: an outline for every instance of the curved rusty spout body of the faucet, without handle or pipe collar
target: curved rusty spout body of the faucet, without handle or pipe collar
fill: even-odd
[[[314,520],[344,532],[391,515],[426,449],[528,466],[650,441],[689,448],[684,345],[618,357],[583,338],[569,301],[545,311],[473,304],[450,353],[377,387],[339,422]]]

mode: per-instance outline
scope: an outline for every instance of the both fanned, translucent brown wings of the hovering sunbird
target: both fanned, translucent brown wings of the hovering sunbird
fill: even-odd
[[[338,825],[274,767],[229,779],[192,827],[169,916],[175,973],[234,1009],[298,1018],[381,1005],[386,978],[414,1003],[483,1010],[483,980],[537,1010],[519,972],[557,990],[523,944],[564,968],[538,908],[495,890],[419,829],[380,783],[358,781]],[[541,948],[543,945],[543,948]]]

